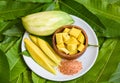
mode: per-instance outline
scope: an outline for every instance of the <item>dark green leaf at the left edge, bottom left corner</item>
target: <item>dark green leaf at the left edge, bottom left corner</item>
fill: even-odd
[[[10,69],[5,53],[0,50],[0,82],[9,83]]]

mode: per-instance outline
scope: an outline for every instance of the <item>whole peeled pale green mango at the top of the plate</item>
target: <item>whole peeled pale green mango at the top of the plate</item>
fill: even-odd
[[[22,23],[29,33],[48,36],[63,25],[74,23],[74,20],[63,11],[45,11],[22,17]]]

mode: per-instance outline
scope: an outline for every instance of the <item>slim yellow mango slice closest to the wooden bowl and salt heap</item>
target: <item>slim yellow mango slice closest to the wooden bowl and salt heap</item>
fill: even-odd
[[[56,58],[55,54],[50,50],[48,43],[41,39],[41,38],[37,38],[38,40],[38,45],[39,47],[42,49],[42,51],[52,60],[54,61],[54,63],[56,63],[57,65],[60,65],[60,61]]]

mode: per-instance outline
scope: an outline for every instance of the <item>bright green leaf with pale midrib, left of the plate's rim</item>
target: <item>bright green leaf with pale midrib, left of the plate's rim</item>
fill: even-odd
[[[15,80],[25,71],[26,65],[20,55],[21,38],[7,51],[6,56],[10,65],[10,81]]]

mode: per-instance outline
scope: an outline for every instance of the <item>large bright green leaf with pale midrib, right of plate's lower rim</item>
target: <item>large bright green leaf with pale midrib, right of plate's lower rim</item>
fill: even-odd
[[[106,83],[120,62],[120,39],[107,39],[100,49],[95,65],[82,78],[84,83]],[[108,82],[109,83],[109,82]]]

